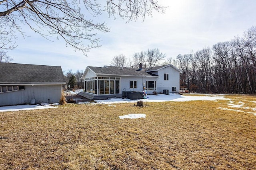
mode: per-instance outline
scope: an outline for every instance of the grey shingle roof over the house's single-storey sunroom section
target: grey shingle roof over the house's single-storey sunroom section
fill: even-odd
[[[117,67],[117,66],[104,66],[104,67],[92,67],[88,66],[96,74],[106,74],[106,75],[119,75],[119,76],[158,76],[156,74],[151,74],[146,72],[145,69],[138,70],[138,68],[128,68],[128,67]]]

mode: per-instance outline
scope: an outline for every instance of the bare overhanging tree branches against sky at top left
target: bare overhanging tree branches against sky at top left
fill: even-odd
[[[129,22],[151,15],[152,10],[163,12],[164,8],[155,0],[0,0],[0,48],[14,47],[16,32],[24,36],[19,25],[24,23],[46,39],[62,38],[66,45],[85,53],[100,47],[97,31],[109,31],[105,23],[91,18],[107,12]]]

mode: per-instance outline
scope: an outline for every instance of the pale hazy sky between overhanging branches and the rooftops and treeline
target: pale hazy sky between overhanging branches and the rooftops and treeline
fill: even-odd
[[[29,37],[18,35],[18,48],[8,51],[12,63],[61,66],[62,70],[84,70],[86,66],[110,65],[112,57],[123,54],[127,58],[134,52],[158,48],[169,57],[188,54],[204,47],[229,41],[234,36],[256,25],[255,0],[159,0],[168,6],[165,14],[154,12],[145,21],[126,23],[122,19],[104,20],[110,32],[98,33],[100,48],[91,49],[87,57],[82,52],[66,47],[62,39],[54,42],[23,29]]]

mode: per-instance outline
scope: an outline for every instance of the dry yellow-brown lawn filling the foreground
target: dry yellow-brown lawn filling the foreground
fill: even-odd
[[[227,101],[114,105],[0,113],[1,169],[256,168],[256,116],[219,109]],[[130,113],[147,116],[118,117]]]

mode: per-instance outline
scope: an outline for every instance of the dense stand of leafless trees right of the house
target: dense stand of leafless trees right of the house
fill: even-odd
[[[242,37],[216,43],[173,61],[180,87],[197,93],[256,93],[256,27]]]

